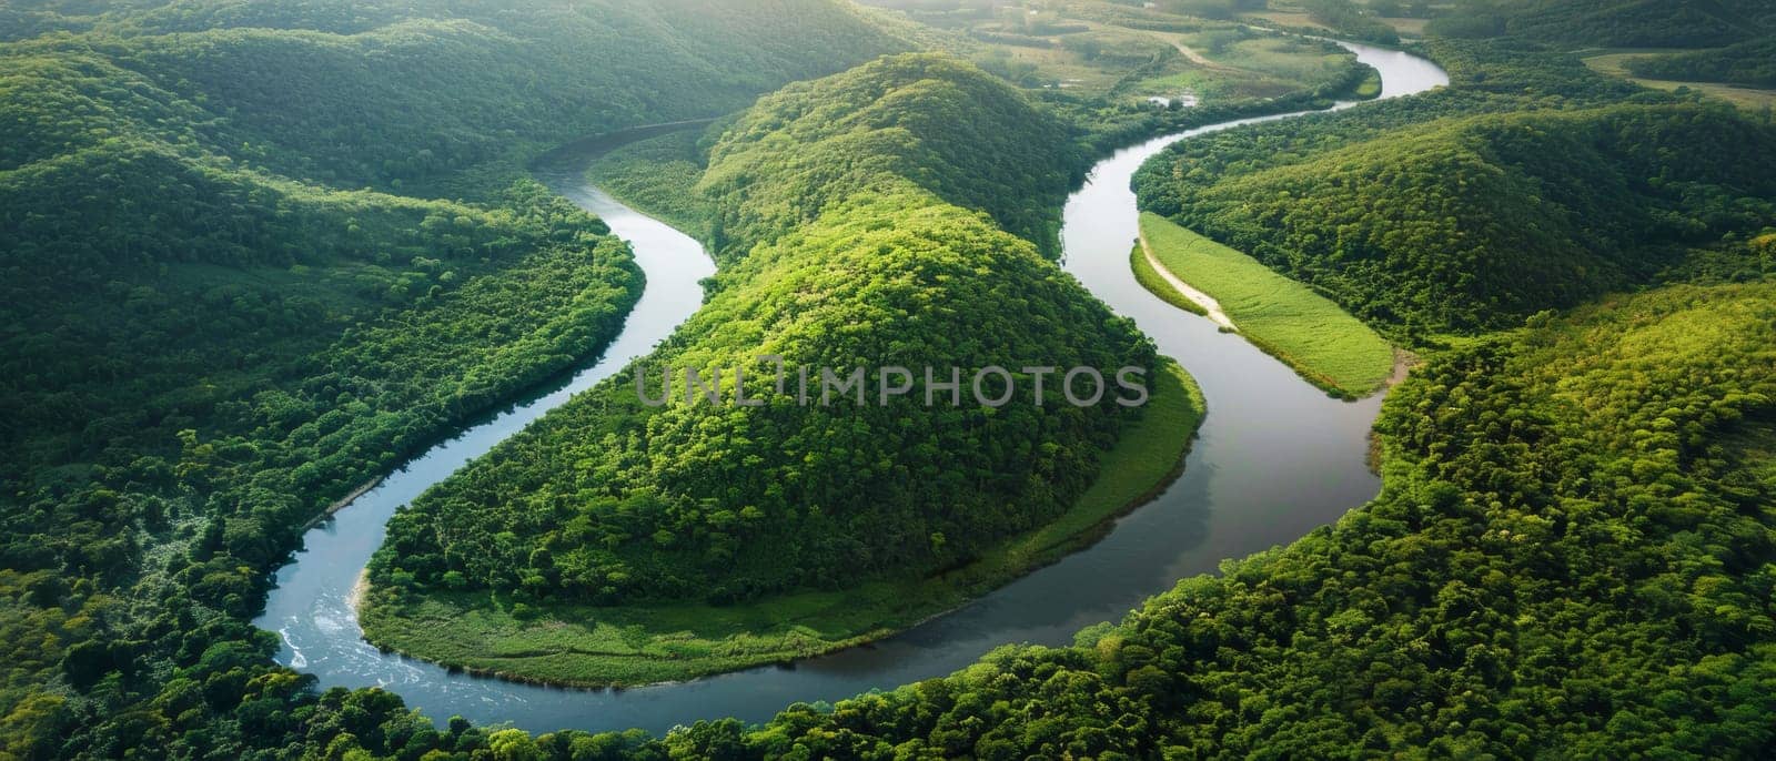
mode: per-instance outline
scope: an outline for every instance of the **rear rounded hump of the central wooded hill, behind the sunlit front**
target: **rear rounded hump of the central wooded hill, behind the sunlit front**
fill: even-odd
[[[764,98],[714,145],[698,192],[718,204],[723,257],[909,181],[1057,252],[1060,202],[1087,163],[1074,138],[973,66],[899,57]]]

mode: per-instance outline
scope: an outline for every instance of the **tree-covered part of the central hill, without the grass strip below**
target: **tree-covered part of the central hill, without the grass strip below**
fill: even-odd
[[[968,124],[943,119],[977,105]],[[936,365],[947,380],[950,365],[1151,364],[1133,325],[1030,241],[941,195],[982,199],[959,181],[980,170],[1018,199],[1051,197],[1074,158],[1057,135],[1009,85],[940,55],[877,60],[765,99],[718,149],[709,190],[732,193],[723,177],[744,172],[760,192],[806,174],[787,188],[808,199],[718,197],[741,220],[726,227],[733,247],[749,254],[728,257],[703,310],[634,369],[657,388],[666,367],[742,365],[762,388],[771,369],[753,357],[780,355],[794,388],[801,365]],[[648,410],[623,373],[398,513],[371,564],[373,594],[394,607],[458,587],[733,601],[918,578],[1058,516],[1131,415],[1108,399],[1035,406],[1030,388],[1025,378],[996,410],[970,397],[952,406],[941,392],[934,406],[918,394],[877,406],[874,387],[861,406],[774,397]]]

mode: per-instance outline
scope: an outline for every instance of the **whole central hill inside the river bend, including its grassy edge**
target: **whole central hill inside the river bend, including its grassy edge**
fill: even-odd
[[[943,119],[968,105],[984,108]],[[1066,137],[943,55],[762,99],[700,186],[728,243],[705,307],[398,513],[371,562],[368,637],[531,679],[682,679],[883,637],[1074,546],[1176,472],[1201,401],[1188,381],[1153,383],[1165,399],[1146,415],[1165,424],[1110,461],[1144,419],[1112,401],[1128,396],[1114,381],[1080,408],[1051,374],[1035,403],[1032,364],[1158,367],[1131,323],[998,227],[1050,234],[1028,199],[1066,193],[1080,161]],[[783,358],[785,392],[760,355]],[[687,403],[673,381],[678,401],[648,408],[634,387],[643,373],[655,396],[684,367],[735,383],[735,365],[765,404]],[[883,365],[911,369],[915,390],[881,403]],[[924,378],[952,365],[961,406]],[[1018,371],[1005,406],[973,399],[991,365]],[[867,390],[822,403],[813,385],[797,403],[797,369],[819,383],[826,367],[867,367]],[[531,619],[591,624],[527,633]],[[529,655],[490,660],[490,646]]]

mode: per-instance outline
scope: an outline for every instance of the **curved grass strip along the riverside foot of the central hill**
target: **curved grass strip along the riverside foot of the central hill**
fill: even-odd
[[[1071,511],[954,571],[733,607],[527,607],[488,592],[403,603],[371,589],[361,605],[364,635],[471,672],[579,686],[691,679],[881,639],[1098,541],[1112,518],[1170,484],[1204,401],[1172,362],[1153,373],[1151,387],[1146,415],[1105,454]]]

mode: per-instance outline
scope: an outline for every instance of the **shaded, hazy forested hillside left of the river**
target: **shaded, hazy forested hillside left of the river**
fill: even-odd
[[[522,160],[904,48],[828,0],[0,25],[0,756],[23,757],[231,747],[268,731],[233,713],[250,678],[313,704],[247,623],[302,527],[595,355],[641,289]]]

